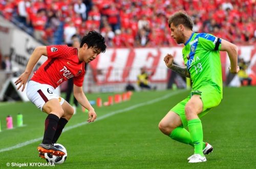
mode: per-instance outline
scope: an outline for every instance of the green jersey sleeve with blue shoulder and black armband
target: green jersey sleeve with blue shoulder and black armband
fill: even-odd
[[[221,39],[211,34],[201,34],[198,38],[199,43],[206,50],[220,50]]]

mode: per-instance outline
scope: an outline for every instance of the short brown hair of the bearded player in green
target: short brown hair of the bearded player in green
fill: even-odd
[[[193,29],[193,21],[192,19],[186,14],[185,11],[178,11],[168,19],[168,26],[170,27],[170,24],[174,24],[174,26],[178,26],[178,24],[182,24],[185,27],[188,27],[189,29]]]

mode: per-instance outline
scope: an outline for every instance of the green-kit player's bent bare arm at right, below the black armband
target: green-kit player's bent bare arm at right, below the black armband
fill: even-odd
[[[221,40],[221,51],[226,51],[230,60],[230,72],[231,73],[238,73],[239,66],[238,66],[238,48],[236,45],[222,39]]]

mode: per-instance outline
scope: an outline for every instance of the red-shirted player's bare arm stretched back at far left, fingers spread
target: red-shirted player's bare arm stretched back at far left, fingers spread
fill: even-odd
[[[29,75],[31,74],[35,64],[41,58],[41,55],[47,56],[46,46],[36,47],[35,50],[33,51],[33,53],[31,54],[31,57],[29,58],[29,62],[28,62],[28,65],[27,65],[25,71],[15,81],[16,86],[19,84],[17,90],[19,90],[19,88],[23,86],[22,87],[22,92],[24,91],[26,83],[27,83],[28,78],[29,78]]]

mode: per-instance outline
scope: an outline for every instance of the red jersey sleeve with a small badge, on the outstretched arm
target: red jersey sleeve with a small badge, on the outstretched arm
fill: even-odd
[[[66,58],[70,47],[67,45],[46,46],[48,58]]]

